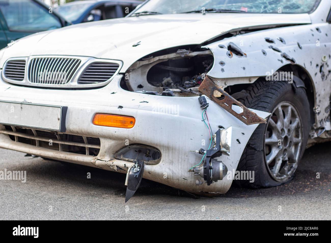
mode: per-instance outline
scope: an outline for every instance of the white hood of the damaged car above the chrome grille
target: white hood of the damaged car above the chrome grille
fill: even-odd
[[[311,23],[308,14],[207,13],[128,17],[76,24],[24,37],[6,49],[11,57],[71,55],[133,62],[170,47],[201,44],[230,30]],[[138,43],[139,45],[134,44]]]

